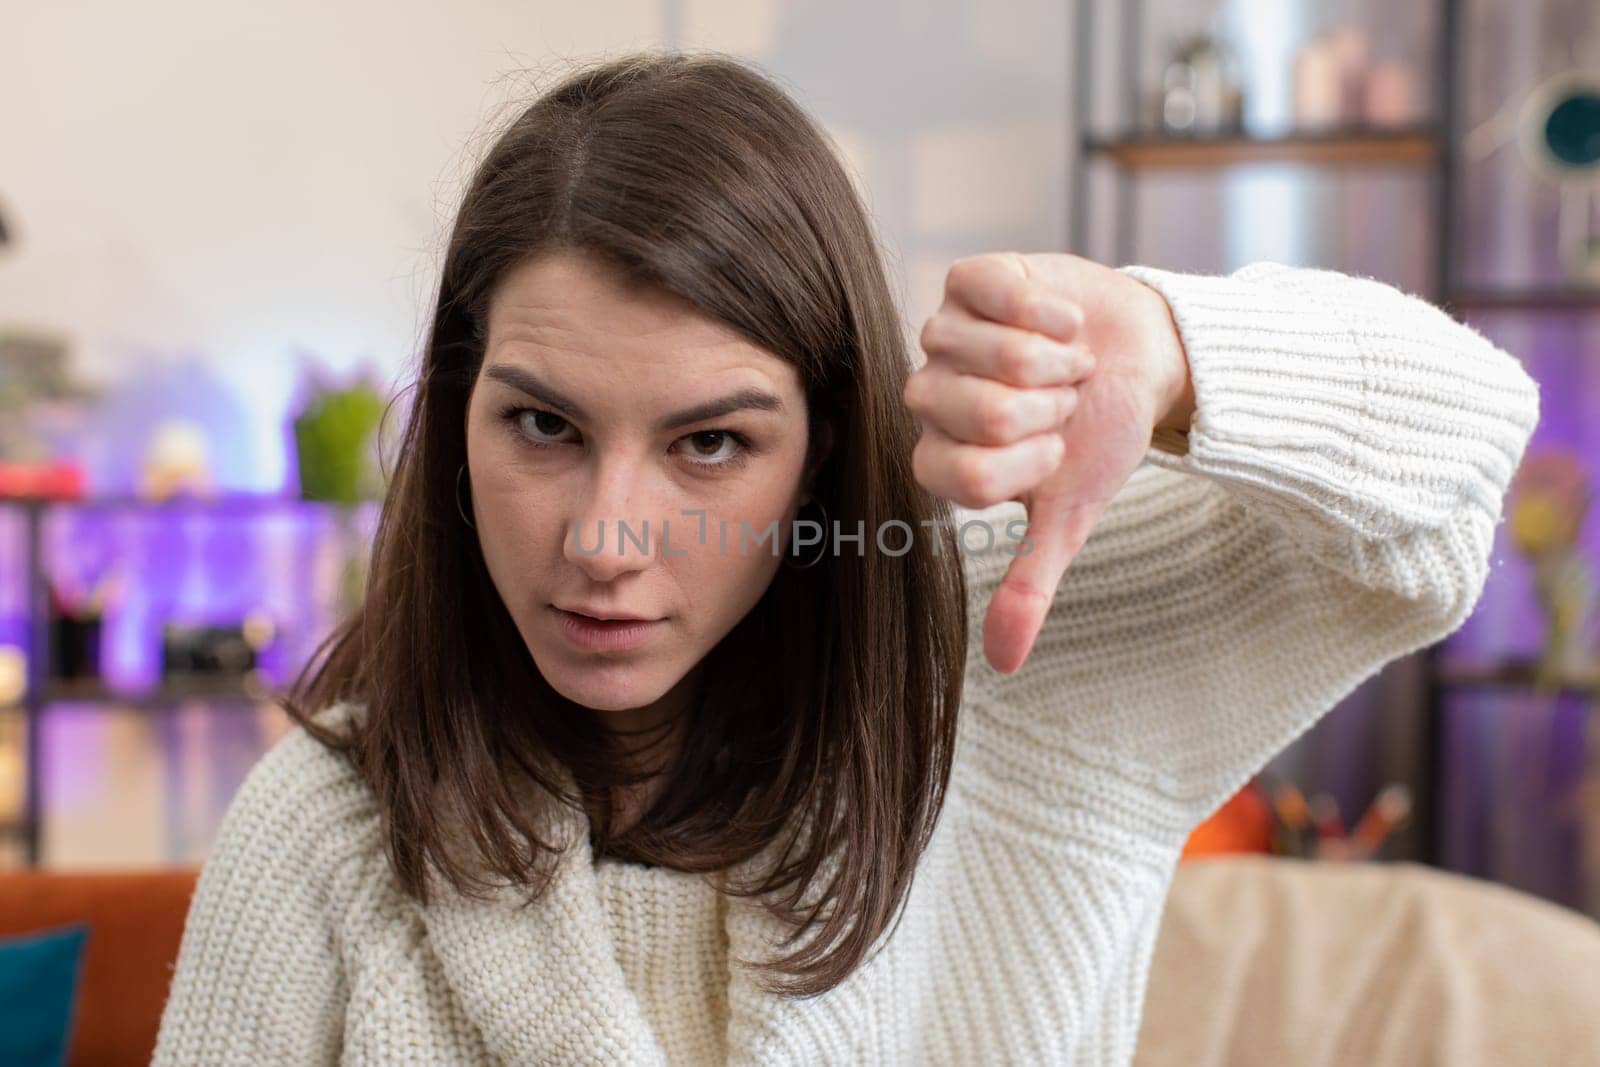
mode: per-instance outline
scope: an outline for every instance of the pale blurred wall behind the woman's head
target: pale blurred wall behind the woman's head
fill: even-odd
[[[301,363],[402,378],[490,118],[563,62],[712,46],[837,136],[907,331],[958,254],[1064,242],[1067,5],[1046,0],[10,0],[0,328],[114,386],[80,451],[125,488],[162,416],[224,485],[285,482]]]

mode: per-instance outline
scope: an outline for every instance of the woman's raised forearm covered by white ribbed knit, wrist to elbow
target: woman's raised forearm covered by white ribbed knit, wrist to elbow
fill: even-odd
[[[1219,478],[1314,541],[1442,530],[1467,506],[1498,517],[1539,392],[1470,326],[1333,270],[1123,272],[1163,291],[1192,373],[1187,454],[1152,462]]]

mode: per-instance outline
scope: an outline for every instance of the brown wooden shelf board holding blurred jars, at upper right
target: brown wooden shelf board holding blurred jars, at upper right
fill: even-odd
[[[1090,155],[1106,155],[1130,170],[1210,168],[1245,163],[1411,166],[1434,163],[1438,158],[1438,134],[1432,126],[1394,130],[1355,126],[1288,133],[1277,138],[1134,133],[1118,138],[1085,138],[1083,150]]]

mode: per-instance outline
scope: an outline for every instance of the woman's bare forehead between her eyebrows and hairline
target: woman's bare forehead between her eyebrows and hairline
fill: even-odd
[[[760,371],[798,390],[795,368],[666,290],[634,285],[597,256],[562,250],[518,264],[490,301],[488,346],[501,358],[627,360],[640,370]]]

